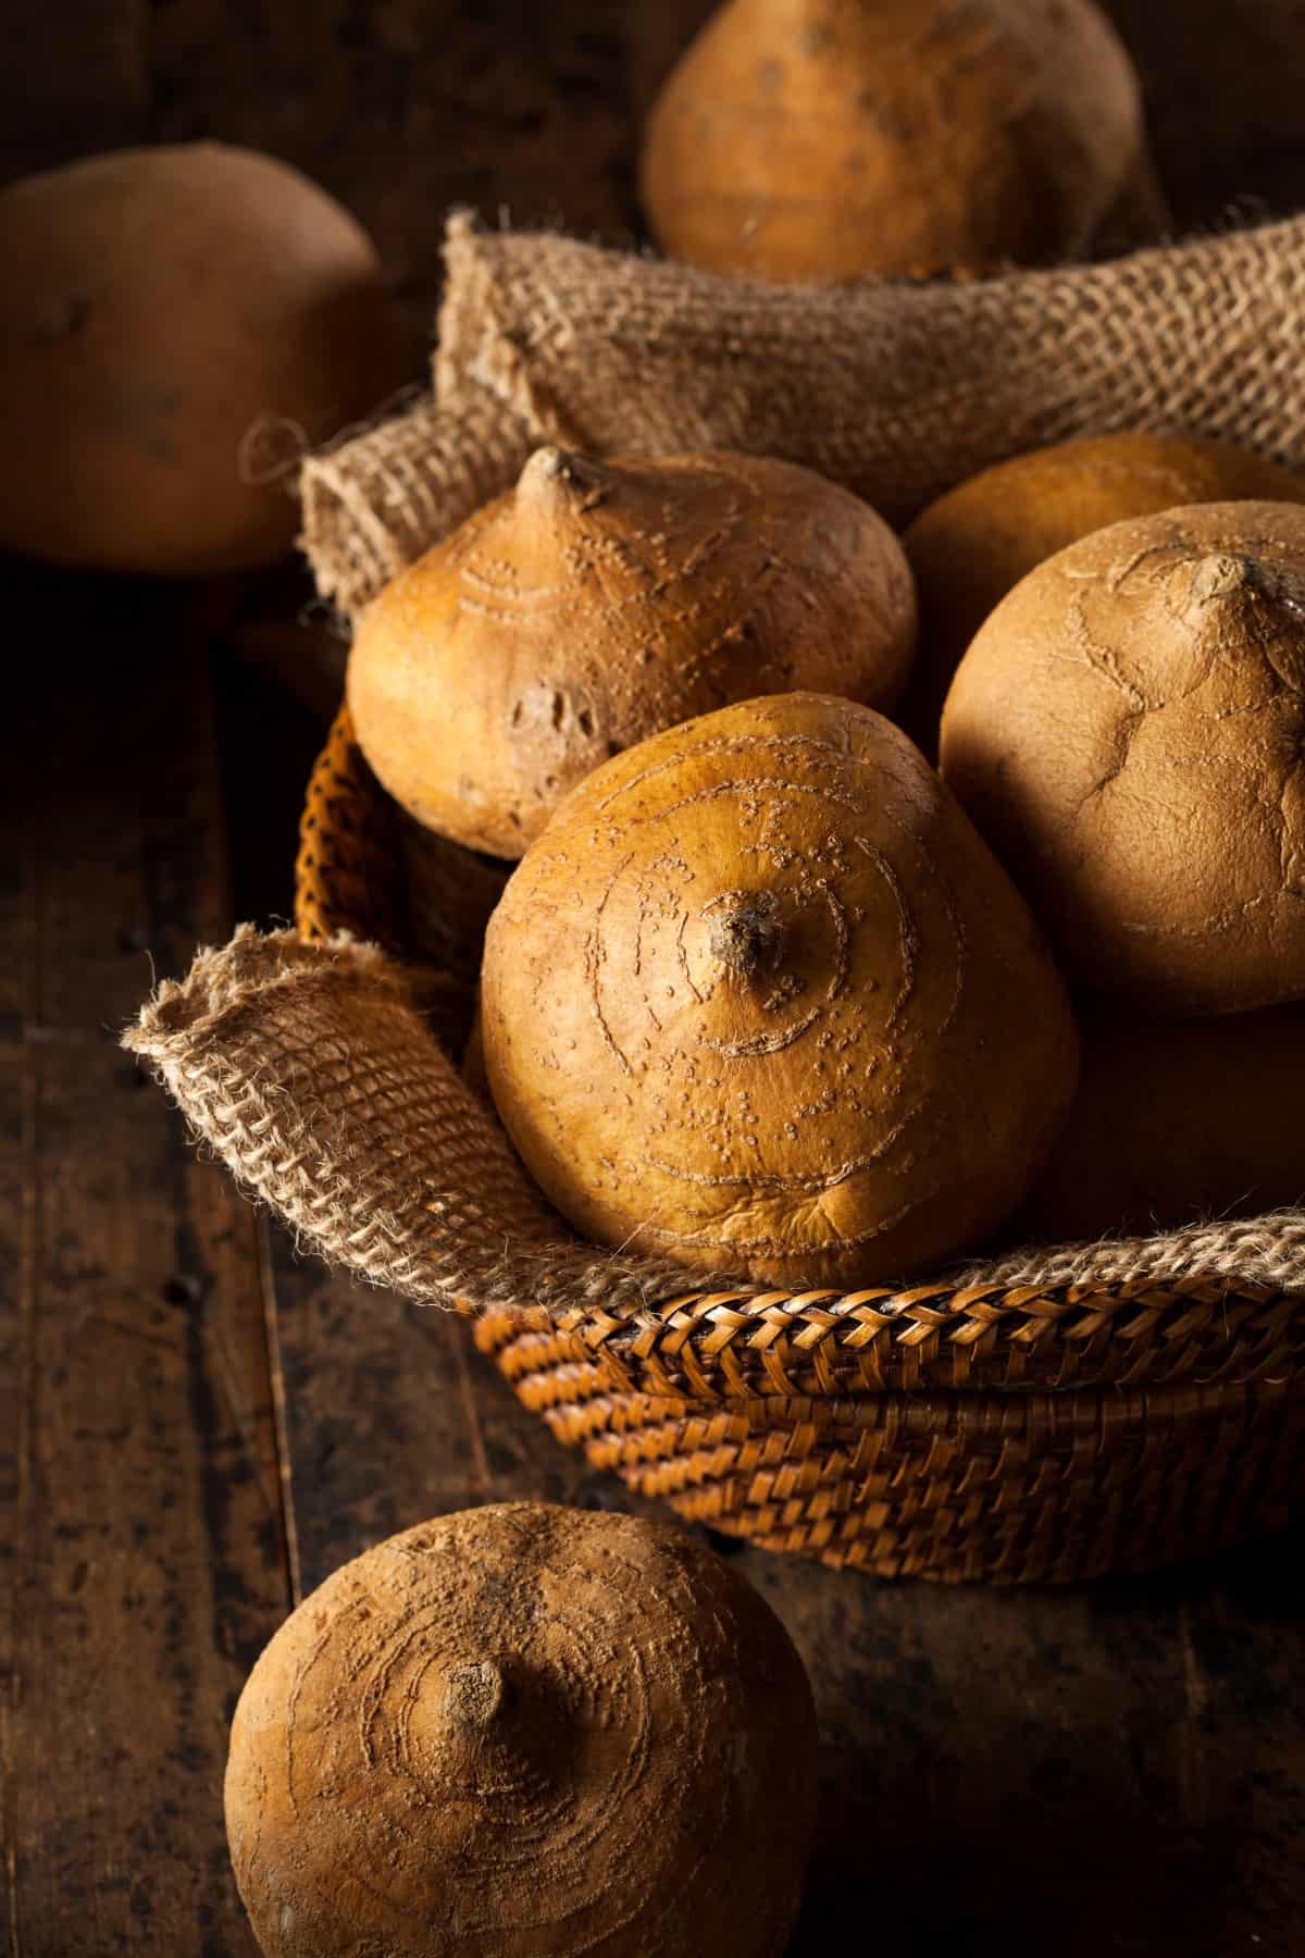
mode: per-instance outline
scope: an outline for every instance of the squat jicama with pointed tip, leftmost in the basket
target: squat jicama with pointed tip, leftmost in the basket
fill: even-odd
[[[518,858],[646,734],[767,689],[888,705],[914,642],[896,536],[810,470],[540,448],[368,605],[348,705],[395,801]]]

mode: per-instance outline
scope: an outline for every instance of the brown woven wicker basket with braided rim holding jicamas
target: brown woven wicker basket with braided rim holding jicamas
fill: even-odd
[[[409,957],[458,1048],[501,883],[407,824],[340,713],[303,813],[299,936],[348,930]],[[636,1320],[462,1304],[560,1441],[773,1551],[882,1576],[1072,1580],[1203,1555],[1291,1508],[1305,1300],[1268,1284],[704,1282]]]

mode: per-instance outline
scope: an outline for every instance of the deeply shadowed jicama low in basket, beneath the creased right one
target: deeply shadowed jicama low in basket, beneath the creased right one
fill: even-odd
[[[1082,1014],[1082,1083],[1013,1235],[1064,1243],[1260,1216],[1305,1198],[1305,1004]]]

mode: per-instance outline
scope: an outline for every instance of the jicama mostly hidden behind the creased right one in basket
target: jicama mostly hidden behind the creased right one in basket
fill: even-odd
[[[1035,448],[931,503],[902,544],[920,595],[920,652],[894,719],[937,752],[947,687],[990,611],[1037,564],[1092,531],[1178,503],[1305,501],[1305,478],[1197,435],[1098,435]]]

